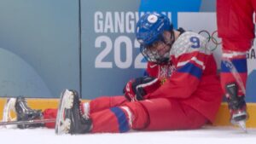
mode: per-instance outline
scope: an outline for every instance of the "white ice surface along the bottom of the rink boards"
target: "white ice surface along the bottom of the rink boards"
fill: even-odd
[[[230,127],[201,130],[131,131],[123,134],[55,135],[54,130],[0,128],[1,144],[256,144],[256,129],[247,134]]]

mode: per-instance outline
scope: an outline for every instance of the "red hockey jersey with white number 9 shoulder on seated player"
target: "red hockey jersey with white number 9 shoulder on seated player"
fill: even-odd
[[[195,32],[183,32],[173,43],[170,56],[166,65],[148,62],[148,75],[160,78],[162,85],[147,98],[178,99],[212,122],[222,100],[222,90],[207,39]]]

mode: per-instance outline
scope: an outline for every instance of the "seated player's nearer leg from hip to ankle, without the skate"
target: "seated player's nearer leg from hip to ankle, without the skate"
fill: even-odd
[[[195,109],[165,98],[127,102],[90,115],[90,132],[125,132],[128,130],[199,129],[207,118]]]

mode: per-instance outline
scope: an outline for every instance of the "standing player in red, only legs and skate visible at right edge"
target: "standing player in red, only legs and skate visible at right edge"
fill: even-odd
[[[217,0],[218,37],[222,38],[221,84],[230,122],[246,129],[247,51],[252,48],[255,0]],[[255,19],[255,17],[254,17]]]

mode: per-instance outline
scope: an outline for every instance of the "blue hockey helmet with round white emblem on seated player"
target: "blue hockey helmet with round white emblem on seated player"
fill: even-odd
[[[137,41],[144,47],[162,40],[165,31],[172,31],[172,25],[165,14],[149,13],[144,14],[137,22]]]

